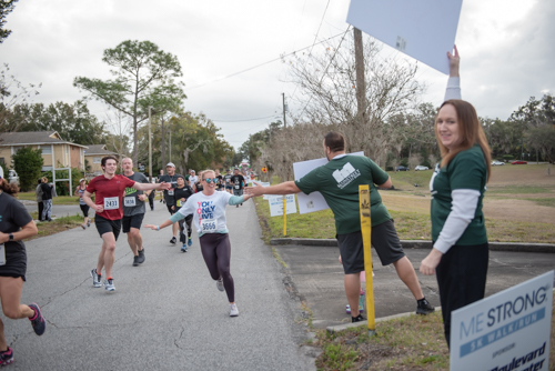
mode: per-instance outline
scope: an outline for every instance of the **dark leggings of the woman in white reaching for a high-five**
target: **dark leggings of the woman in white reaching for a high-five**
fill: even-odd
[[[228,300],[235,301],[235,287],[230,273],[231,243],[228,233],[206,233],[200,239],[202,257],[213,280],[223,280]]]

